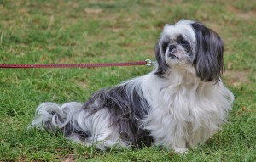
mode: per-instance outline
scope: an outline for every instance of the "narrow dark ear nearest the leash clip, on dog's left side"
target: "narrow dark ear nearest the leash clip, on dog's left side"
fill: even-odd
[[[163,76],[168,69],[168,65],[165,60],[165,52],[167,47],[167,42],[156,42],[154,47],[155,58],[157,61],[157,70],[154,73],[155,75]]]

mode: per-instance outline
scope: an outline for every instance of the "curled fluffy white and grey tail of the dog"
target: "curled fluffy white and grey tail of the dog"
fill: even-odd
[[[73,115],[82,109],[82,104],[77,102],[64,103],[62,105],[56,103],[42,103],[36,110],[35,119],[31,126],[39,129],[46,128],[49,131],[57,129],[72,129]]]

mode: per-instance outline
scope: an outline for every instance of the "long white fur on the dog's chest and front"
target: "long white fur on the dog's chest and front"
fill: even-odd
[[[225,121],[234,100],[222,82],[146,77],[143,92],[152,109],[143,126],[151,131],[156,144],[169,148],[183,150],[207,140]]]

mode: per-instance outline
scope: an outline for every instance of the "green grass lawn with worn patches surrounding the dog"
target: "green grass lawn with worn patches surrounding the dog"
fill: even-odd
[[[102,152],[26,126],[38,103],[84,102],[91,92],[151,68],[1,69],[0,161],[255,161],[255,2],[0,0],[0,14],[1,64],[154,59],[166,23],[200,20],[224,39],[224,83],[236,97],[229,123],[187,155],[155,146]]]

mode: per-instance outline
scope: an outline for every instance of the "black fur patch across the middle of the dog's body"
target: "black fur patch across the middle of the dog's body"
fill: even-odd
[[[99,109],[108,109],[111,115],[111,126],[119,128],[120,138],[137,148],[150,146],[154,142],[147,130],[140,128],[139,120],[148,115],[149,105],[139,90],[127,89],[126,85],[102,89],[94,93],[83,109],[96,112]],[[99,105],[91,108],[97,100]]]

